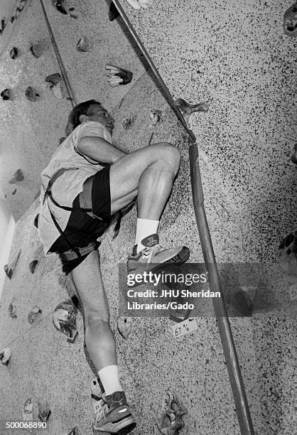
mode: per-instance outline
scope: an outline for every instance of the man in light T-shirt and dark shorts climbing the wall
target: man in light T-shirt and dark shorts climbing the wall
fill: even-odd
[[[128,273],[153,270],[156,263],[181,264],[189,249],[164,249],[157,234],[178,173],[178,149],[158,143],[126,154],[112,145],[112,129],[112,118],[99,102],[89,100],[72,109],[68,137],[41,173],[38,233],[45,254],[59,254],[85,311],[85,343],[104,387],[94,428],[117,434],[132,429],[135,422],[119,381],[97,239],[112,215],[137,197],[136,240]]]

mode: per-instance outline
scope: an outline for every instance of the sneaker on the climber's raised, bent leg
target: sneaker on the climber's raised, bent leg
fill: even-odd
[[[186,246],[177,246],[165,249],[159,245],[157,234],[150,235],[141,240],[144,249],[136,254],[136,245],[133,253],[128,257],[128,274],[143,274],[163,269],[164,264],[183,264],[190,256]]]

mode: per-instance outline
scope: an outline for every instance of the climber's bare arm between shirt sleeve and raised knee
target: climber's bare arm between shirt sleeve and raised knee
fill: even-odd
[[[114,163],[126,154],[109,141],[97,136],[84,136],[79,139],[77,150],[92,160],[102,163]]]

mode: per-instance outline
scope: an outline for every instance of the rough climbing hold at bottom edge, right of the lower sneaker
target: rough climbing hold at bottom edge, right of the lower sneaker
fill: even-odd
[[[162,400],[161,412],[158,413],[157,426],[163,435],[178,435],[185,426],[182,418],[187,414],[187,409],[178,396],[168,388]]]

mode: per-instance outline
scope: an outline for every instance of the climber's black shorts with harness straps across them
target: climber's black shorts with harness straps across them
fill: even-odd
[[[59,254],[63,264],[63,271],[68,274],[78,266],[90,252],[97,249],[99,243],[97,238],[100,237],[111,222],[110,215],[110,187],[109,187],[109,166],[95,173],[85,181],[83,191],[77,195],[72,203],[73,208],[81,208],[82,197],[90,196],[92,201],[92,213],[98,218],[91,217],[81,210],[72,210],[68,220],[67,227],[55,243],[50,247],[50,252]],[[85,199],[85,198],[83,198]],[[89,204],[90,207],[90,204]],[[70,249],[70,244],[76,248],[82,249],[82,255],[77,257]],[[68,254],[69,252],[69,254]],[[87,252],[87,253],[85,253]],[[73,257],[69,259],[69,257]]]

